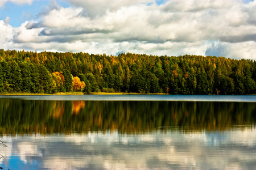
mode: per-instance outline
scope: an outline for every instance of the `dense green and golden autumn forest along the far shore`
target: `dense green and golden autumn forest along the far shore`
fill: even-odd
[[[0,50],[0,93],[256,94],[256,61]]]

